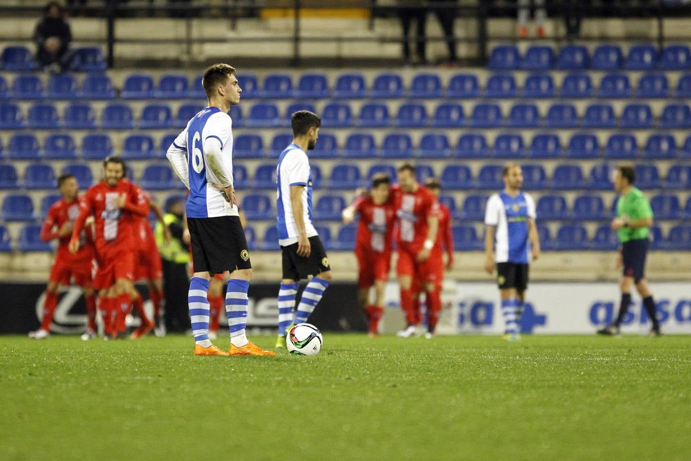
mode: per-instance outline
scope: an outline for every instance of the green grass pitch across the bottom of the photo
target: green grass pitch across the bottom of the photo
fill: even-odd
[[[689,459],[690,341],[0,337],[0,459]]]

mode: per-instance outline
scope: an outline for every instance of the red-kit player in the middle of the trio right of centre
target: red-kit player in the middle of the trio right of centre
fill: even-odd
[[[428,305],[441,305],[439,292],[433,287],[437,281],[438,261],[431,258],[439,229],[439,203],[437,198],[415,180],[415,167],[404,163],[398,168],[398,185],[392,187],[398,217],[397,273],[401,290],[401,308],[406,314],[408,326],[397,333],[410,337],[417,332],[417,316],[414,309],[413,279],[422,283],[431,294]],[[439,308],[441,310],[441,308]]]

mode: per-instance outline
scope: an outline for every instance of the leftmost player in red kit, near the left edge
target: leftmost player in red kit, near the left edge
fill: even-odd
[[[70,175],[62,175],[57,178],[57,188],[62,198],[49,209],[41,227],[41,240],[49,242],[59,241],[53,267],[50,269],[50,278],[46,288],[46,301],[44,305],[44,317],[41,328],[29,333],[29,337],[41,339],[50,334],[50,323],[53,322],[53,314],[57,307],[57,294],[60,285],[70,285],[70,280],[84,290],[86,301],[86,314],[88,325],[82,339],[92,339],[96,336],[96,297],[93,292],[91,280],[91,266],[94,258],[93,238],[87,235],[86,229],[79,234],[78,250],[71,254],[68,243],[75,219],[79,214],[79,185],[77,179]]]

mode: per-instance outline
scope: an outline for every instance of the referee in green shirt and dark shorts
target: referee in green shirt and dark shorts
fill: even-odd
[[[648,233],[652,226],[652,209],[640,189],[634,187],[636,171],[633,167],[618,167],[614,171],[614,190],[619,194],[616,202],[616,218],[612,220],[612,229],[619,234],[621,247],[617,256],[616,267],[623,267],[621,278],[621,304],[616,320],[611,325],[599,330],[600,335],[618,335],[619,326],[631,305],[631,288],[636,285],[638,294],[643,298],[643,305],[652,321],[650,335],[659,336],[660,323],[655,312],[655,301],[645,281],[645,256],[648,250]]]

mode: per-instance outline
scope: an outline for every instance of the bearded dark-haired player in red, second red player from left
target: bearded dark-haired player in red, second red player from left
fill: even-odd
[[[103,162],[104,180],[90,187],[84,195],[79,216],[69,243],[75,254],[79,249],[79,234],[88,216],[96,225],[96,258],[99,265],[94,279],[95,288],[102,290],[102,310],[108,335],[124,337],[125,316],[135,290],[134,215],[144,216],[146,209],[138,202],[138,189],[124,179],[125,164],[120,157],[111,156]],[[141,299],[141,298],[140,298]]]

